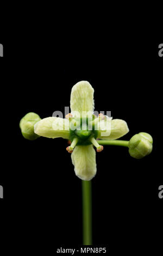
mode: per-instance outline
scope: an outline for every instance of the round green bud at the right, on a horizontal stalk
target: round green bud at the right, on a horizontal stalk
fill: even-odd
[[[134,135],[128,144],[129,154],[135,159],[142,159],[152,152],[153,138],[146,132]]]

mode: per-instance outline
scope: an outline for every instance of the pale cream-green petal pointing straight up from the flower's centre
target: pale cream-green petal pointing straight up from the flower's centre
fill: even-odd
[[[70,107],[74,116],[77,116],[79,112],[82,117],[82,112],[90,112],[92,114],[94,110],[93,100],[94,90],[91,84],[87,81],[81,81],[75,84],[71,90]]]

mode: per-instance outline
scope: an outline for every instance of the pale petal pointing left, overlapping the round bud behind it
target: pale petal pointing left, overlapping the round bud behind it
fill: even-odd
[[[47,117],[37,122],[34,132],[47,138],[69,138],[69,121],[59,117]]]

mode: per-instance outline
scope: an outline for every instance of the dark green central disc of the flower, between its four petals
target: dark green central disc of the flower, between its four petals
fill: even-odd
[[[97,138],[98,131],[95,130],[95,126],[91,126],[91,118],[71,118],[70,125],[70,140],[73,141],[74,138],[78,138],[77,145],[91,145],[90,139],[92,137]]]

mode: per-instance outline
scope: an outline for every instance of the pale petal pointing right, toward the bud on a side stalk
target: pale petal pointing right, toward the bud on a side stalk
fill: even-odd
[[[111,120],[110,135],[108,136],[106,133],[106,136],[105,136],[105,133],[104,134],[99,133],[98,138],[99,139],[118,139],[118,138],[126,135],[126,133],[128,133],[128,132],[129,132],[129,129],[128,129],[126,121],[121,120],[121,119],[113,119],[113,120]]]

